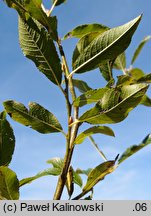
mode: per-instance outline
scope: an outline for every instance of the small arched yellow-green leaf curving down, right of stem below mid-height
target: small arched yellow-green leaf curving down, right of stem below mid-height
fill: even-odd
[[[114,132],[111,130],[111,128],[106,127],[106,126],[95,126],[79,134],[75,140],[75,144],[81,144],[85,140],[86,137],[92,134],[97,134],[97,133],[114,136]]]

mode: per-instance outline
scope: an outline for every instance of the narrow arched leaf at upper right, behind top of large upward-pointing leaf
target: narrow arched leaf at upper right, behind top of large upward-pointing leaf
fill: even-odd
[[[70,32],[68,32],[65,36],[64,39],[67,38],[82,38],[83,36],[90,34],[90,33],[95,33],[99,32],[100,34],[107,31],[109,28],[107,26],[93,23],[93,24],[85,24],[85,25],[80,25],[77,26],[76,28],[72,29]]]

